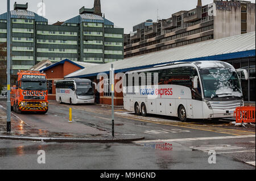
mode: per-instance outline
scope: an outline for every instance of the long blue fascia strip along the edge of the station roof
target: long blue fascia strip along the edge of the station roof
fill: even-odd
[[[115,70],[115,73],[125,73],[127,71],[134,71],[134,70],[140,70],[140,69],[147,69],[152,68],[156,65],[164,65],[164,64],[170,64],[174,62],[193,62],[193,61],[221,61],[221,60],[230,60],[234,58],[244,58],[244,57],[254,57],[255,56],[255,50],[246,50],[243,52],[235,52],[235,53],[227,53],[227,54],[218,54],[214,56],[208,56],[208,57],[200,57],[200,58],[191,58],[187,60],[179,60],[179,61],[170,61],[170,62],[164,62],[161,64],[152,64],[152,65],[145,65],[145,66],[139,66],[134,68],[127,68],[127,69],[119,69]],[[109,71],[105,71],[102,73],[109,74]],[[94,77],[97,76],[98,73],[93,74],[87,74],[87,75],[79,75],[72,78],[85,78],[85,77]]]

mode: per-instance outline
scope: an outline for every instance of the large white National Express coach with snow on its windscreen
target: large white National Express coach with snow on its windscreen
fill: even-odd
[[[246,70],[238,71],[248,77]],[[135,77],[135,73],[140,74],[138,85],[132,78],[129,82],[129,77]],[[151,73],[150,80],[147,73]],[[236,107],[244,104],[237,71],[226,62],[172,63],[127,72],[124,79],[124,108],[137,115],[176,116],[181,121],[220,119],[233,117]]]

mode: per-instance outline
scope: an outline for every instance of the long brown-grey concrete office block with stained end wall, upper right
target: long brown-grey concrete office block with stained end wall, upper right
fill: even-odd
[[[125,58],[187,44],[221,39],[255,31],[255,3],[213,1],[195,9],[179,11],[168,19],[147,20],[124,36]]]

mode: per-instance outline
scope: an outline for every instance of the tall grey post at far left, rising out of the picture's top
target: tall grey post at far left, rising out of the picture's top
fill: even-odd
[[[7,127],[6,131],[11,132],[11,100],[10,100],[10,67],[11,67],[11,22],[10,22],[10,0],[7,0]]]

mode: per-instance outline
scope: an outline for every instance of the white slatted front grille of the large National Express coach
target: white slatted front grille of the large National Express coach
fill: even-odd
[[[225,101],[225,102],[212,101],[210,102],[210,105],[212,106],[213,109],[216,109],[216,110],[233,110],[241,106],[241,100],[233,100],[233,101]]]

